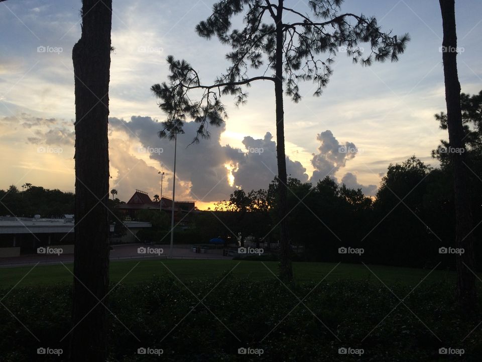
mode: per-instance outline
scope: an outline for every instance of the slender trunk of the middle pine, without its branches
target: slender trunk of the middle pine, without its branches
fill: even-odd
[[[280,278],[286,281],[293,279],[291,268],[290,245],[288,236],[287,207],[287,175],[285,155],[285,127],[283,110],[283,0],[278,2],[276,21],[276,155],[278,158],[279,218],[281,228],[281,265]]]

